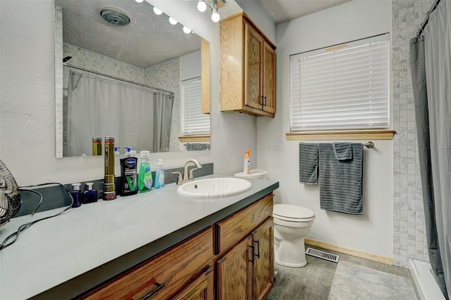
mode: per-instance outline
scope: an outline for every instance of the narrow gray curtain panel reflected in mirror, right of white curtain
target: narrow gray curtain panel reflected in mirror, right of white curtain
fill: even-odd
[[[168,152],[171,138],[173,96],[154,93],[154,148],[153,152]]]

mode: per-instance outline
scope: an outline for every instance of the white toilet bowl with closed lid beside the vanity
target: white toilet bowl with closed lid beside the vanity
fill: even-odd
[[[274,204],[274,261],[299,268],[307,264],[304,237],[310,232],[315,214],[311,209],[292,204]]]

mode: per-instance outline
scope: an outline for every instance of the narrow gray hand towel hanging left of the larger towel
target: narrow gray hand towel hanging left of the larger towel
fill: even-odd
[[[318,143],[299,143],[299,182],[318,183]]]

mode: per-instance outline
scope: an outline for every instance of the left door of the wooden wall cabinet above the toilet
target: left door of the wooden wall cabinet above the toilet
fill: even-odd
[[[263,39],[260,34],[245,22],[245,105],[262,109],[261,95],[263,61]]]

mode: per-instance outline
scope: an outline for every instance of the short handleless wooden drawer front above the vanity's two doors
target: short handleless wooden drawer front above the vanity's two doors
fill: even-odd
[[[215,224],[215,254],[239,242],[249,235],[261,222],[273,214],[273,194],[266,195],[257,202],[238,211]]]

